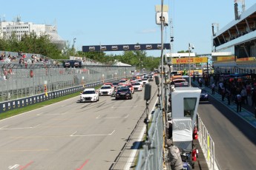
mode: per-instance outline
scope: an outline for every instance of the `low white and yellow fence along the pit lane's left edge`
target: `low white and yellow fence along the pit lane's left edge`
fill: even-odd
[[[220,168],[217,164],[217,160],[215,160],[214,140],[212,140],[211,135],[209,134],[199,115],[197,115],[197,129],[199,136],[198,140],[203,150],[203,154],[206,157],[206,162],[209,169],[219,170]]]

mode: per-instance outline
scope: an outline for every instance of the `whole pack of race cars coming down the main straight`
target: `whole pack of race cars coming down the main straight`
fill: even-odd
[[[96,102],[99,101],[99,96],[111,96],[116,100],[132,99],[134,92],[142,92],[142,86],[148,84],[149,81],[154,81],[154,74],[143,74],[133,76],[130,80],[122,78],[119,81],[106,82],[99,89],[87,88],[84,89],[79,96],[79,102]]]

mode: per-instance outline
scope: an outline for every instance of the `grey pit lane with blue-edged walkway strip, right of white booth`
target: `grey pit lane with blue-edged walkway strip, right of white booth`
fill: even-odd
[[[198,115],[214,140],[215,159],[220,169],[256,169],[254,113],[245,107],[237,113],[235,103],[228,105],[217,92],[211,95],[210,89],[209,95],[209,101],[200,102]]]

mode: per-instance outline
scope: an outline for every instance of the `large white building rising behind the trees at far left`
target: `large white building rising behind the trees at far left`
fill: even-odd
[[[0,38],[10,38],[12,33],[20,41],[24,34],[36,33],[36,35],[50,35],[53,44],[56,44],[59,50],[65,47],[65,41],[57,33],[56,26],[47,24],[33,24],[32,22],[23,22],[18,16],[16,21],[0,20]]]

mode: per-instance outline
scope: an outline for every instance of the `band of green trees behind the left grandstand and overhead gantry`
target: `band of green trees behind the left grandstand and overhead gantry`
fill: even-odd
[[[160,58],[147,57],[147,53],[141,50],[125,51],[122,55],[107,55],[105,52],[75,52],[73,47],[70,47],[69,42],[67,42],[64,49],[61,51],[56,47],[56,44],[53,44],[50,40],[50,35],[36,35],[36,33],[30,33],[24,34],[21,41],[18,41],[16,33],[13,33],[8,39],[0,38],[0,50],[41,54],[58,60],[65,60],[75,55],[110,65],[114,64],[115,61],[120,61],[137,67],[137,70],[142,68],[153,70],[160,64]]]

